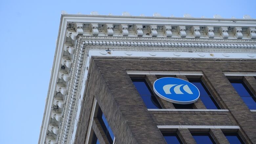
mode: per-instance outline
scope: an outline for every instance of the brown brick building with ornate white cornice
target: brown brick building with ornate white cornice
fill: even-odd
[[[39,143],[256,143],[255,31],[254,19],[62,15]],[[160,98],[162,77],[200,98]]]

